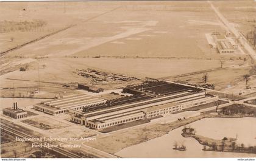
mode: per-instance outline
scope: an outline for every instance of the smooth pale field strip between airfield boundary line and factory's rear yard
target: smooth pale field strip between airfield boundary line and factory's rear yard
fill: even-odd
[[[45,64],[46,67],[41,66]],[[198,66],[198,64],[200,64]],[[13,79],[38,80],[38,65],[40,66],[40,81],[74,82],[85,81],[85,78],[75,74],[76,69],[96,68],[110,72],[126,74],[135,77],[165,77],[169,75],[183,74],[198,70],[219,67],[218,60],[165,60],[165,59],[141,59],[141,58],[51,58],[35,61],[25,72],[15,71],[2,75],[2,86],[13,85]],[[16,81],[26,87],[28,82]],[[16,84],[15,83],[15,84]],[[37,85],[37,82],[31,82]],[[32,85],[29,83],[30,85]]]

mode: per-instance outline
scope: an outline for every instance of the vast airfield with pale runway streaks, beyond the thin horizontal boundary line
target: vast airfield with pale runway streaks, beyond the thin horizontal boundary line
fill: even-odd
[[[224,31],[207,2],[51,2],[50,6],[16,2],[0,9],[3,20],[40,19],[46,23],[41,32],[77,24],[9,56],[212,57],[216,53],[210,51],[205,32]],[[7,10],[12,14],[6,15]],[[2,45],[16,46],[24,41],[15,35],[33,39],[41,32],[8,32]]]

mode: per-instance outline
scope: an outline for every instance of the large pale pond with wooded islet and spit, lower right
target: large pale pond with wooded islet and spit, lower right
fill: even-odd
[[[256,145],[256,118],[204,118],[187,126],[195,128],[196,134],[205,137],[222,139],[238,135],[238,143],[244,143],[245,146]],[[256,154],[202,151],[203,146],[196,139],[182,137],[182,128],[124,148],[115,154],[121,157],[256,157]],[[172,149],[175,141],[187,146],[187,151]]]

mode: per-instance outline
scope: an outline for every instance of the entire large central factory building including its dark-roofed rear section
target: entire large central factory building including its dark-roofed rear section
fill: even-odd
[[[218,97],[207,95],[202,89],[165,81],[128,86],[123,92],[133,95],[108,100],[105,104],[85,106],[84,112],[73,115],[71,120],[93,129],[102,129],[218,100]]]

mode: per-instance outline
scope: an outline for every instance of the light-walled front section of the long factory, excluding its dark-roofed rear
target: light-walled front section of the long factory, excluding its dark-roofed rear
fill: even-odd
[[[158,117],[185,108],[217,101],[218,97],[206,95],[205,92],[173,94],[166,100],[163,97],[140,101],[113,108],[73,115],[71,120],[93,129],[108,128],[144,118]]]

